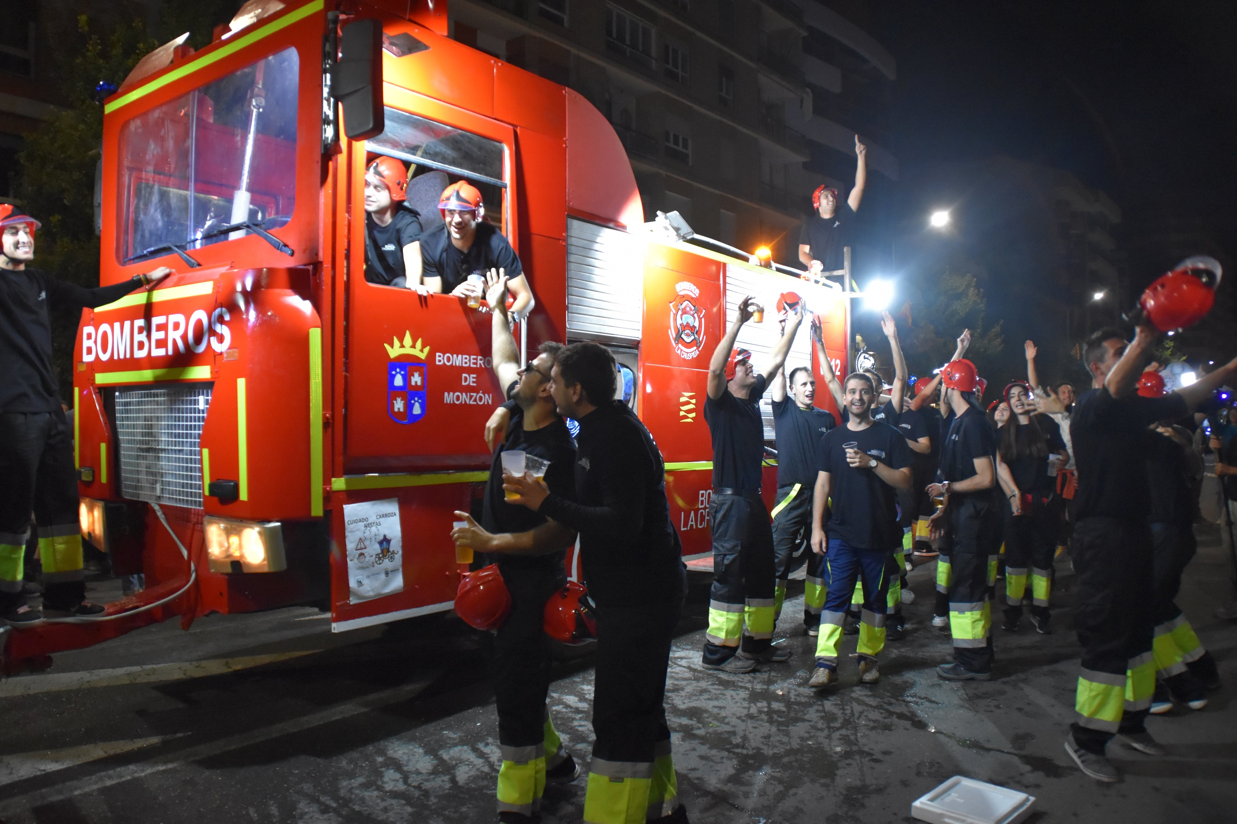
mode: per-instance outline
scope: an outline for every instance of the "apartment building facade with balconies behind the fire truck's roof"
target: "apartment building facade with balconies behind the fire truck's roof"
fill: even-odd
[[[898,177],[893,57],[816,0],[452,0],[450,31],[605,114],[646,219],[792,262],[811,191],[854,182],[856,132],[870,186]]]

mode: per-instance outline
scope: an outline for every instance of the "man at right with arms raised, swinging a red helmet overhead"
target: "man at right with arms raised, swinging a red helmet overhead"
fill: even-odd
[[[1233,360],[1165,397],[1139,397],[1134,385],[1157,337],[1138,327],[1128,344],[1117,329],[1087,338],[1082,355],[1092,388],[1070,416],[1079,471],[1070,552],[1082,672],[1065,750],[1082,772],[1105,782],[1121,778],[1105,756],[1113,735],[1142,752],[1165,752],[1144,726],[1155,685],[1155,616],[1150,489],[1139,445],[1152,423],[1186,414],[1237,372]]]

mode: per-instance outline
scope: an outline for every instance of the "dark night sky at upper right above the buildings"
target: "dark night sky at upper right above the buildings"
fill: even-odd
[[[933,168],[1008,156],[1072,172],[1117,203],[1136,291],[1180,260],[1183,236],[1190,252],[1221,257],[1222,290],[1237,290],[1237,2],[831,5],[898,61],[903,219],[933,202],[922,182]],[[1001,285],[988,292],[990,317],[1002,317]],[[1237,340],[1237,317],[1220,314],[1205,322],[1210,337]],[[1019,358],[1021,344],[1007,335]]]

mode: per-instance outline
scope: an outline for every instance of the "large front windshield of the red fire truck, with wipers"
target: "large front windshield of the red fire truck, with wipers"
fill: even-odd
[[[257,61],[127,121],[120,130],[121,262],[277,229],[296,203],[294,48]]]

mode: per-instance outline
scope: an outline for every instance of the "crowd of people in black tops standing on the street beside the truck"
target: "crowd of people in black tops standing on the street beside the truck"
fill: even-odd
[[[620,397],[621,372],[605,346],[544,344],[518,366],[505,288],[491,272],[494,369],[508,401],[487,424],[495,458],[481,517],[458,512],[466,526],[453,532],[486,553],[476,563],[497,564],[512,599],[495,640],[500,820],[533,820],[547,782],[579,775],[549,718],[550,652],[539,624],[563,584],[564,547],[578,536],[597,642],[584,820],[684,822],[663,699],[685,578],[661,453]],[[858,636],[858,682],[875,683],[886,642],[904,631],[907,558],[918,557],[935,558],[931,624],[951,642],[938,676],[988,680],[993,604],[1003,632],[1028,629],[1029,606],[1029,627],[1050,633],[1055,558],[1069,552],[1084,652],[1065,749],[1105,782],[1119,778],[1105,755],[1115,736],[1163,755],[1147,716],[1174,703],[1201,709],[1220,687],[1215,659],[1174,599],[1195,551],[1195,431],[1205,417],[1196,410],[1237,376],[1237,360],[1166,392],[1150,363],[1158,333],[1143,325],[1127,340],[1100,329],[1082,346],[1091,385],[1076,393],[1069,382],[1039,380],[1038,350],[1027,341],[1027,376],[983,406],[986,382],[965,358],[969,330],[933,377],[912,385],[897,323],[884,313],[893,382],[876,370],[839,380],[826,367],[839,421],[815,405],[810,369],[784,374],[808,308],[787,301],[779,339],[760,365],[735,345],[758,311],[751,297],[738,302],[709,364],[714,582],[701,668],[747,673],[787,662],[792,651],[774,627],[787,579],[805,564],[804,632],[816,638],[805,685],[836,688],[850,633]],[[820,328],[809,325],[816,363],[828,364]],[[762,489],[766,392],[777,453],[772,511]],[[579,426],[574,442],[563,416]],[[1237,450],[1237,413],[1211,432],[1215,448]],[[542,457],[552,470],[543,480],[506,474],[507,449]],[[1227,475],[1232,460],[1222,452],[1217,473]]]

